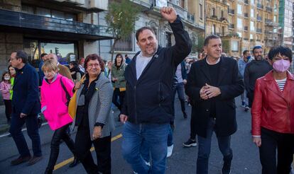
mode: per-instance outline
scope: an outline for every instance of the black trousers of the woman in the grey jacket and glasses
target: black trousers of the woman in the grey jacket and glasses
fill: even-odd
[[[90,151],[92,144],[94,144],[96,151],[97,165],[94,163]],[[92,141],[89,127],[81,125],[75,136],[75,149],[77,158],[82,162],[87,173],[111,173],[111,135]]]

